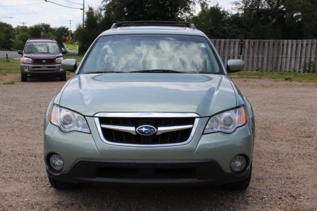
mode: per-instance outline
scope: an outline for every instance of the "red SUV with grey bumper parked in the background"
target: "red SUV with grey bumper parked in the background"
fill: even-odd
[[[21,81],[26,82],[28,75],[58,76],[60,81],[66,80],[66,72],[61,67],[63,60],[57,42],[54,39],[29,39],[24,50],[19,50],[21,58]]]

